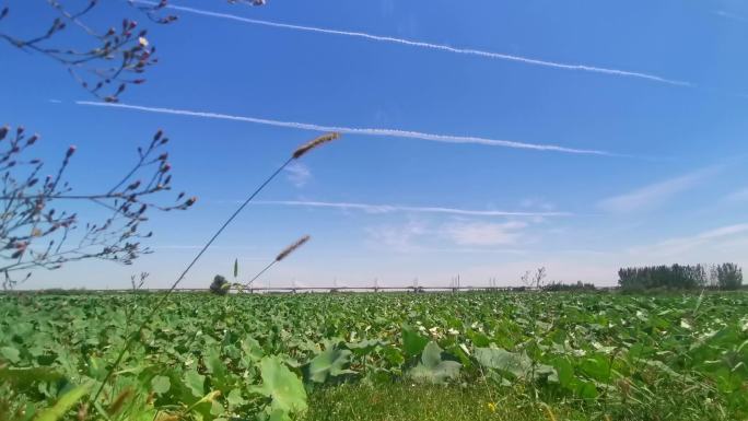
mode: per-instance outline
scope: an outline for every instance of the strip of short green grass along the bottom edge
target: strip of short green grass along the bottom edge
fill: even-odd
[[[608,408],[600,402],[534,400],[522,387],[426,386],[404,383],[340,385],[309,394],[303,421],[576,421],[576,420],[728,420],[709,401],[680,399],[671,390],[667,405]],[[665,399],[668,400],[668,399]],[[494,404],[490,406],[489,404]]]

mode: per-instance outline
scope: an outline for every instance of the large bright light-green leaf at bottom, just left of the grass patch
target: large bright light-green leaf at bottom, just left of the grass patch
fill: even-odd
[[[306,391],[302,381],[287,367],[278,356],[266,356],[260,361],[262,385],[253,391],[271,398],[270,411],[284,413],[306,409]]]

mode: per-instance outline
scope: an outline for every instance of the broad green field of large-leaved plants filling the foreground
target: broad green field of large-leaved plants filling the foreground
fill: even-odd
[[[743,420],[748,295],[0,296],[4,420]]]

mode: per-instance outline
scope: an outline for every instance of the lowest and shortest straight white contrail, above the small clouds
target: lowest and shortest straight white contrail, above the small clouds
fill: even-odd
[[[325,202],[306,200],[261,200],[257,204],[279,204],[312,208],[334,208],[342,210],[360,210],[369,213],[390,213],[390,212],[422,212],[422,213],[446,213],[465,217],[571,217],[568,212],[506,212],[493,210],[468,210],[441,207],[409,207],[398,204],[371,204],[371,203],[348,203],[348,202]]]

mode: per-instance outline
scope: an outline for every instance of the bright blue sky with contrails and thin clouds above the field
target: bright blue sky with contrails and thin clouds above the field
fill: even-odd
[[[740,1],[171,3],[192,10],[150,26],[161,61],[121,97],[140,109],[87,104],[62,68],[2,46],[2,121],[42,133],[45,157],[77,144],[78,191],[105,188],[163,128],[175,187],[200,198],[152,214],[156,253],[135,266],[70,265],[27,288],[127,286],[138,271],[151,288],[171,284],[237,201],[318,135],[246,118],[418,133],[363,130],[315,150],[184,286],[229,274],[234,258],[249,277],[303,234],[308,245],[262,283],[517,284],[545,266],[549,279],[612,284],[628,265],[748,265]],[[10,5],[8,32],[48,13]],[[94,22],[122,11],[108,4]]]

